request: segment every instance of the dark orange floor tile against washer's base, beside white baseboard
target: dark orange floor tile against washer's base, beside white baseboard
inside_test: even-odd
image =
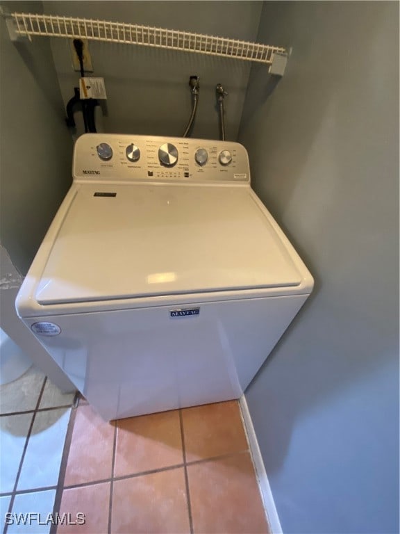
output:
[[[186,408],[182,419],[188,462],[248,448],[238,401]]]

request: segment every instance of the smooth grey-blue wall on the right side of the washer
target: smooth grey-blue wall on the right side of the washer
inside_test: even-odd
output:
[[[399,532],[399,3],[266,2],[239,139],[315,293],[246,397],[283,532]]]

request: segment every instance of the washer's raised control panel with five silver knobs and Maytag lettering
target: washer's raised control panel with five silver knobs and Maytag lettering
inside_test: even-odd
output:
[[[74,147],[76,181],[249,183],[240,143],[191,138],[85,133]]]

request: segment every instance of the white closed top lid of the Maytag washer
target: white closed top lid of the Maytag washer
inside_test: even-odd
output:
[[[35,296],[49,305],[301,280],[249,187],[86,184],[60,225]]]

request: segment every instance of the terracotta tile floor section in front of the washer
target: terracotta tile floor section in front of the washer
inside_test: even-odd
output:
[[[72,410],[57,533],[268,533],[236,401],[105,423]]]

